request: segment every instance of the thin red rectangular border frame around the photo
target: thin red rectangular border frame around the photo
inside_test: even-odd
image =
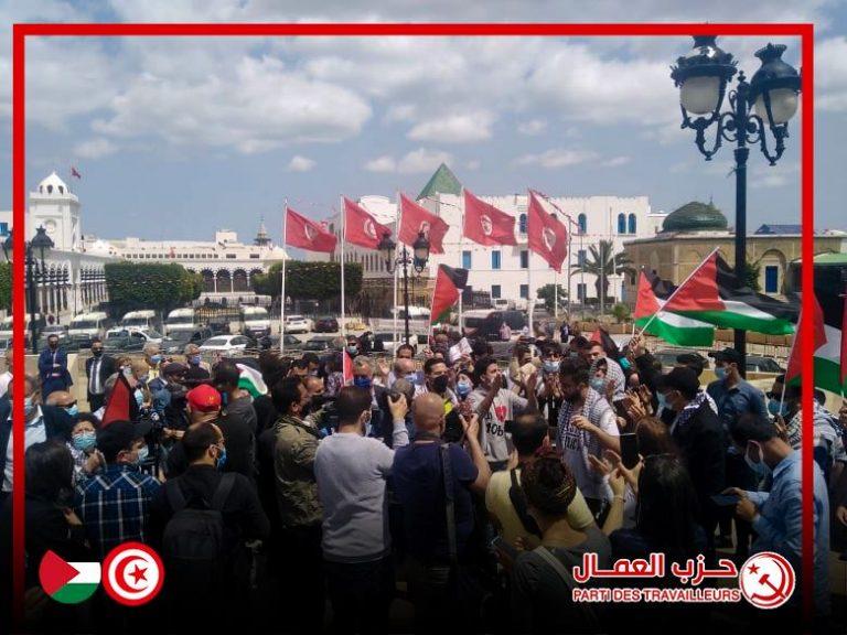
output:
[[[12,218],[14,227],[24,226],[25,207],[25,127],[24,127],[24,53],[26,36],[390,36],[390,35],[452,35],[452,36],[689,36],[689,35],[740,35],[740,36],[796,36],[801,39],[803,109],[801,114],[802,139],[802,260],[811,263],[814,258],[814,25],[790,24],[532,24],[532,23],[357,23],[357,24],[14,24],[12,30]],[[669,61],[668,61],[669,62]],[[668,78],[668,82],[671,79]],[[14,232],[14,252],[23,252],[24,232]],[[24,306],[24,266],[22,258],[15,258],[12,267],[13,306]],[[803,289],[814,289],[813,267],[802,268]],[[814,312],[813,293],[803,293],[803,311]],[[20,313],[20,311],[18,311]],[[12,326],[14,340],[13,374],[24,374],[23,321],[15,320]],[[802,351],[802,373],[805,377],[814,374],[813,351],[804,345],[814,340],[814,325],[805,320],[798,333]],[[804,439],[812,438],[812,391],[803,395]],[[12,405],[14,430],[14,492],[12,494],[13,526],[13,609],[15,618],[23,614],[24,592],[24,491],[23,484],[23,394],[15,392]],[[813,536],[813,455],[812,444],[804,443],[802,450],[803,471],[803,613],[811,628],[814,611],[814,536]]]

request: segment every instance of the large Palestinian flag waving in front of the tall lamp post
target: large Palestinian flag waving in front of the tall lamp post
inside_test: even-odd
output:
[[[723,329],[790,335],[794,333],[800,305],[739,287],[735,272],[716,249],[662,310]]]

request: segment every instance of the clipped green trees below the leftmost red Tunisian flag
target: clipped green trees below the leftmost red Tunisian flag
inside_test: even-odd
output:
[[[279,298],[282,290],[282,263],[271,265],[267,273],[253,278],[257,293]],[[362,290],[362,265],[347,262],[344,266],[344,294],[358,295]],[[329,300],[341,295],[341,263],[286,262],[286,295],[294,300]]]

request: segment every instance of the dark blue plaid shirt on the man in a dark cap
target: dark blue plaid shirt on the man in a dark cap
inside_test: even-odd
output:
[[[107,465],[76,489],[76,513],[104,558],[128,540],[146,542],[150,501],[159,481],[132,465]]]

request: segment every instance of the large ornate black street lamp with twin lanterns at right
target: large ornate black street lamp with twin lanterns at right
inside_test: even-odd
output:
[[[801,78],[793,66],[782,61],[785,46],[768,44],[755,53],[762,66],[750,83],[740,72],[736,88],[727,94],[738,63],[717,45],[716,40],[716,35],[695,35],[694,50],[676,61],[671,77],[679,88],[682,128],[691,128],[696,132],[695,144],[706,161],[711,160],[723,141],[736,147],[736,279],[744,287],[748,146],[759,146],[768,162],[776,164],[785,151],[789,120],[797,111]],[[725,96],[729,98],[729,109],[721,112]],[[706,130],[712,126],[715,140],[708,147]],[[768,141],[769,131],[773,137],[773,150]],[[744,375],[746,331],[736,330],[736,349],[741,354],[739,370]]]

